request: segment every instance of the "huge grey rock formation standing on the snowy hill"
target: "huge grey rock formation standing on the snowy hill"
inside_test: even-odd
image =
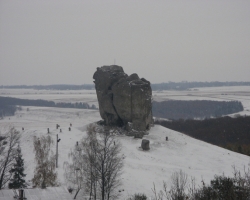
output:
[[[98,67],[94,73],[100,115],[106,125],[145,131],[152,122],[150,82],[128,76],[117,65]],[[131,126],[132,125],[132,126]]]

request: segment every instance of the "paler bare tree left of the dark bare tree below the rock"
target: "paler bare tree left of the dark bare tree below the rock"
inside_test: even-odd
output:
[[[83,189],[89,193],[90,199],[96,199],[95,181],[95,154],[96,154],[96,131],[95,126],[87,127],[87,137],[82,139],[69,153],[71,162],[64,162],[64,176],[68,181],[69,187],[76,190],[74,199],[78,192]]]

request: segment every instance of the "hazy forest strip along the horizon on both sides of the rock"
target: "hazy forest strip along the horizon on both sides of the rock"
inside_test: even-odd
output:
[[[167,82],[151,84],[152,90],[187,90],[196,87],[221,87],[221,86],[250,86],[250,82]],[[13,85],[13,86],[0,86],[0,88],[9,89],[36,89],[36,90],[93,90],[94,84],[84,85]]]

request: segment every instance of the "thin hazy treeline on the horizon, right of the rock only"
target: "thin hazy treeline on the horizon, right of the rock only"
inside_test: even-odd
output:
[[[250,82],[168,82],[151,84],[152,90],[187,90],[196,87],[250,86]]]

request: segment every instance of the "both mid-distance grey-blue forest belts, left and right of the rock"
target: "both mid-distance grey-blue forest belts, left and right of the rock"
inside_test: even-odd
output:
[[[77,103],[55,103],[46,100],[29,100],[12,97],[0,97],[0,117],[11,116],[15,114],[17,106],[42,106],[59,108],[79,108],[96,109],[95,105],[90,106],[84,102]],[[243,110],[239,101],[180,101],[171,100],[163,102],[153,102],[152,112],[154,117],[167,119],[195,119],[220,117]]]

